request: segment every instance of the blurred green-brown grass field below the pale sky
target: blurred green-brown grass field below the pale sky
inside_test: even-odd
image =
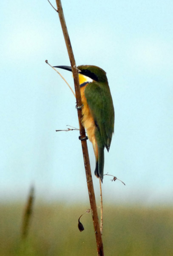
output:
[[[34,205],[28,237],[21,239],[24,205],[0,205],[0,256],[94,256],[91,213],[77,228],[88,207]],[[105,256],[172,256],[173,209],[104,206]]]

